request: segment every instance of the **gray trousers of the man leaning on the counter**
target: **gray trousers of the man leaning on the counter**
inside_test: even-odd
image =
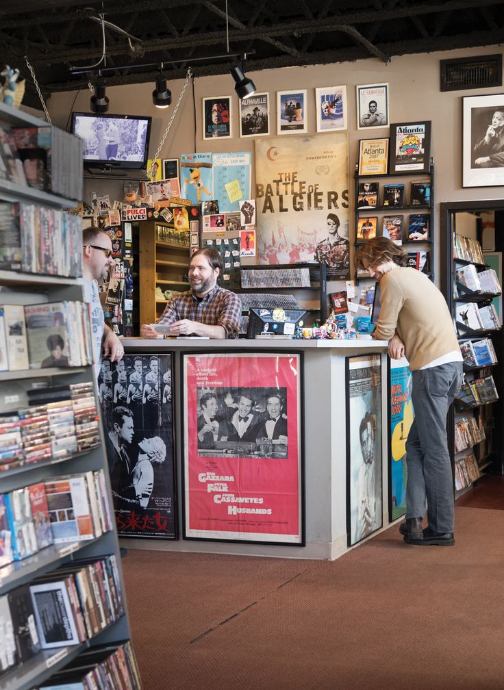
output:
[[[423,517],[434,532],[454,531],[453,473],[446,417],[462,385],[462,362],[413,372],[415,419],[406,442],[406,517]]]

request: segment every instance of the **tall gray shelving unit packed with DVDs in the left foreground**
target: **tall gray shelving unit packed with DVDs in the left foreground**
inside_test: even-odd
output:
[[[0,127],[5,143],[11,127],[47,123],[0,105]],[[70,176],[77,168],[81,175],[79,151],[64,151]],[[65,177],[57,165],[52,155],[51,191],[0,179],[0,687],[75,678],[73,667],[86,662],[89,673],[114,667],[117,687],[139,690],[91,364],[80,219],[68,224],[61,213],[75,199],[54,192]],[[57,333],[48,335],[52,324]]]

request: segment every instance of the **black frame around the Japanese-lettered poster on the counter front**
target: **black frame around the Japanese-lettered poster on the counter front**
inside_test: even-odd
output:
[[[153,539],[153,540],[167,540],[167,541],[178,541],[180,539],[180,524],[179,524],[179,492],[178,492],[178,477],[177,477],[177,456],[176,456],[176,448],[175,448],[175,395],[176,395],[176,389],[175,389],[175,353],[174,352],[158,352],[158,353],[152,353],[152,352],[130,352],[126,351],[124,355],[124,362],[126,363],[126,357],[131,357],[133,361],[135,360],[136,357],[142,357],[142,360],[145,359],[150,359],[150,357],[170,357],[170,374],[171,374],[171,438],[169,438],[170,441],[170,449],[171,449],[171,457],[173,459],[173,464],[171,468],[171,473],[172,473],[172,480],[173,480],[173,536],[172,535],[152,535],[148,533],[135,533],[135,534],[126,534],[123,532],[119,532],[119,529],[117,528],[117,517],[116,517],[116,509],[115,509],[115,502],[114,500],[110,504],[110,509],[114,514],[114,524],[116,525],[117,529],[117,536],[120,538],[125,538],[125,539]],[[103,364],[103,362],[102,362]],[[117,367],[117,362],[110,362],[110,371],[112,371],[112,366]],[[142,370],[143,370],[143,365],[142,365]],[[115,370],[116,371],[116,370]],[[166,370],[168,371],[168,369]],[[99,375],[99,380],[102,378],[102,373],[100,371]],[[144,374],[142,373],[142,386],[144,385]],[[162,381],[160,381],[160,385],[162,385]],[[113,391],[113,380],[112,380],[112,391]],[[162,393],[161,393],[162,396]],[[125,405],[126,407],[128,406],[127,404]],[[113,408],[114,404],[113,402],[110,404],[110,408],[108,409],[108,414],[104,410],[104,402],[100,403],[101,407],[101,415],[102,415],[102,424],[104,427],[104,435],[106,437],[106,451],[107,455],[111,452],[113,452],[113,446],[110,443],[110,440],[108,440],[108,431],[109,428],[107,426],[107,417],[108,414],[110,416],[113,414]],[[108,424],[111,424],[112,420],[110,419]],[[168,439],[167,439],[168,440]],[[110,482],[112,482],[112,475],[110,477]]]

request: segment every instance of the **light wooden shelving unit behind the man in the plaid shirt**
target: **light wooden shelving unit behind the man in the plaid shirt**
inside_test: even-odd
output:
[[[188,290],[189,232],[163,221],[139,223],[139,320],[153,324],[173,292]]]

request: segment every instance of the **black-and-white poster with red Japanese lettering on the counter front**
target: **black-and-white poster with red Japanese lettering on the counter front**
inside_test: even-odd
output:
[[[122,537],[176,537],[171,380],[171,355],[101,364],[98,393]]]

